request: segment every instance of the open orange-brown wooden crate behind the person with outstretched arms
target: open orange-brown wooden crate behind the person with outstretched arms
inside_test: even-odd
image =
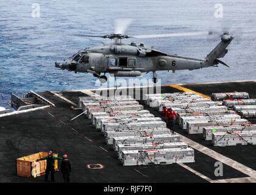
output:
[[[16,159],[16,174],[22,177],[38,177],[45,173],[46,170],[46,160],[36,161],[39,158],[46,157],[48,152],[38,152],[36,154],[31,154],[26,157],[21,157]],[[54,154],[58,156],[58,154]],[[58,169],[58,160],[54,161],[55,171]]]

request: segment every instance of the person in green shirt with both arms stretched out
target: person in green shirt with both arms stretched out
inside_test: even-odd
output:
[[[45,181],[48,182],[49,172],[51,172],[51,181],[54,182],[54,160],[62,160],[60,157],[55,157],[52,151],[48,152],[48,156],[38,159],[46,160],[46,170],[45,170]]]

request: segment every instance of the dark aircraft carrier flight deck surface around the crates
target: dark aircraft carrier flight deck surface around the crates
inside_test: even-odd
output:
[[[223,82],[180,85],[196,93],[245,91],[256,98],[256,82]],[[115,89],[111,89],[115,90]],[[140,90],[135,88],[134,90]],[[180,92],[174,85],[165,85],[161,93]],[[16,158],[41,151],[68,153],[72,165],[71,182],[256,182],[256,146],[215,147],[197,134],[188,134],[176,125],[181,141],[194,149],[194,163],[171,165],[123,166],[112,145],[96,130],[91,120],[76,108],[78,97],[90,96],[94,90],[37,91],[40,97],[54,104],[34,111],[7,113],[0,117],[0,182],[44,182],[44,177],[16,176]],[[141,95],[142,97],[142,95]],[[161,113],[139,100],[155,117]],[[0,115],[1,116],[1,115]],[[255,119],[248,119],[256,124]],[[215,176],[216,161],[223,163],[223,176]],[[88,165],[102,165],[90,169]],[[57,181],[62,181],[59,173]]]

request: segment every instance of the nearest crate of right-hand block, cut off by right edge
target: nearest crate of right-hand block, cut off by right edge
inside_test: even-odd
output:
[[[256,131],[213,133],[212,142],[214,146],[222,146],[222,147],[256,144]]]

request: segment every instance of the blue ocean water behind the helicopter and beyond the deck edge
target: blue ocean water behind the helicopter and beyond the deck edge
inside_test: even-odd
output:
[[[31,15],[40,5],[40,18]],[[222,3],[223,18],[215,18],[215,4]],[[116,18],[133,18],[129,35],[227,30],[235,39],[224,57],[230,68],[160,72],[163,84],[255,79],[256,1],[0,1],[0,106],[8,107],[10,94],[30,90],[94,88],[91,74],[61,71],[55,60],[64,60],[79,49],[108,43],[79,35],[113,33]],[[204,58],[219,43],[218,36],[151,38],[144,42],[169,54]],[[152,74],[144,77],[151,78]]]

